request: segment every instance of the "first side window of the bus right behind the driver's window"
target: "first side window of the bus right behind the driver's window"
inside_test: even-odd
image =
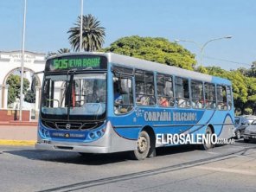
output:
[[[136,103],[138,106],[154,106],[154,75],[151,73],[136,71]]]

